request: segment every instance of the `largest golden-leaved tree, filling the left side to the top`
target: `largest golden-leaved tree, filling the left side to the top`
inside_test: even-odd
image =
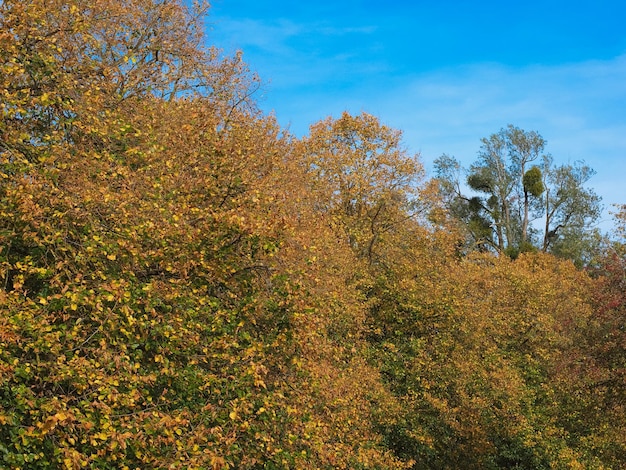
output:
[[[0,466],[403,466],[355,254],[205,9],[0,5]]]

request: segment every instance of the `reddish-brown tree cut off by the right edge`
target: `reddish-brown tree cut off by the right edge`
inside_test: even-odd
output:
[[[626,462],[626,212],[617,206],[613,238],[589,272],[596,284],[589,296],[593,315],[573,333],[559,367],[564,426],[579,436],[589,454],[619,468]]]

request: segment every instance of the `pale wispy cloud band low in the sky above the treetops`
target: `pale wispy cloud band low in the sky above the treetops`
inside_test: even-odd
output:
[[[584,160],[607,205],[626,201],[626,56],[554,66],[477,64],[419,75],[352,76],[349,90],[276,90],[266,103],[296,134],[343,110],[378,115],[403,130],[426,167],[443,153],[464,164],[480,138],[511,123],[536,130],[557,162]]]

